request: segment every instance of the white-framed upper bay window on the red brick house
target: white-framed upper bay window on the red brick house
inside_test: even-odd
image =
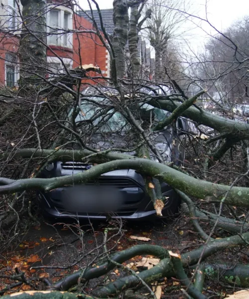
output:
[[[59,19],[58,19],[58,38],[57,38],[57,44],[51,43],[49,35],[50,35],[50,11],[51,10],[57,10],[59,12]],[[54,8],[51,7],[49,9],[49,11],[47,12],[47,24],[49,24],[49,26],[47,26],[47,33],[48,33],[48,45],[55,45],[55,46],[62,46],[62,47],[66,47],[66,48],[72,48],[73,47],[73,34],[72,33],[64,33],[64,14],[68,14],[68,30],[72,30],[73,28],[73,11],[69,10],[68,7],[65,7],[63,5],[59,5],[59,6],[55,6]],[[64,40],[65,40],[65,34],[66,34],[66,44],[64,44]]]

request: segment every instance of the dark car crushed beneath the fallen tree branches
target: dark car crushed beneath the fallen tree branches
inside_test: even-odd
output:
[[[103,101],[103,98],[99,100]],[[79,113],[76,118],[77,123],[93,116],[91,104],[82,103],[82,107],[84,107],[82,108],[84,109],[84,116]],[[158,120],[165,118],[167,115],[167,112],[147,104],[142,109],[150,112],[153,110],[155,118]],[[96,124],[98,124],[98,120],[96,120]],[[107,121],[107,126],[102,128],[105,134],[103,135],[103,132],[95,134],[91,138],[91,142],[101,150],[108,149],[110,146],[114,148],[116,145],[119,148],[125,148],[127,142],[125,124],[123,116],[118,112],[114,113]],[[112,128],[115,128],[115,133],[113,133]],[[184,160],[185,136],[183,132],[186,130],[186,120],[179,118],[176,126],[167,127],[166,130],[153,135],[154,145],[161,152],[165,161],[173,161],[175,164],[180,165]],[[134,154],[134,152],[130,152],[130,154]],[[156,157],[151,154],[151,159],[156,160]],[[91,167],[94,167],[94,165],[79,161],[56,161],[43,170],[41,177],[72,175],[86,171]],[[111,196],[113,199],[109,196],[110,192],[105,193],[108,192],[107,190],[112,190],[112,194],[115,194]],[[167,183],[163,182],[161,184],[161,190],[163,196],[167,197],[162,210],[163,216],[175,215],[179,212],[179,196]],[[114,199],[114,196],[117,200]],[[62,187],[50,192],[38,192],[38,199],[44,214],[57,219],[68,217],[104,219],[107,215],[125,219],[145,219],[154,217],[156,214],[150,197],[146,193],[142,175],[133,169],[104,173],[84,186]]]

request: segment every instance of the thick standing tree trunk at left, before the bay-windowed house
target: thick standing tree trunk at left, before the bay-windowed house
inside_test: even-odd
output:
[[[23,23],[21,29],[20,92],[24,93],[42,83],[46,63],[46,2],[21,0]]]

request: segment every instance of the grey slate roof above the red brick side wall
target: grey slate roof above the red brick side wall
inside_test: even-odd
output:
[[[86,12],[90,16],[92,15],[91,10],[86,10]],[[87,20],[89,20],[90,22],[92,22],[92,20],[83,11],[80,11],[79,14],[82,15]],[[114,27],[115,27],[114,22],[113,22],[113,9],[112,8],[111,9],[101,9],[101,15],[102,15],[103,24],[105,26],[107,33],[112,35],[114,33]],[[93,16],[97,22],[97,25],[100,28],[100,16],[99,16],[98,10],[93,10]]]

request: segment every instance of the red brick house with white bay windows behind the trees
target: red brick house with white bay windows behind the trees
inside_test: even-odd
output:
[[[20,0],[0,0],[0,85],[13,87],[19,79],[18,45],[21,19],[18,15]],[[91,20],[82,12],[75,13],[62,0],[47,1],[47,68],[54,73],[83,64],[99,66],[103,76],[110,76],[110,57],[100,38],[84,30],[95,30]],[[90,13],[90,11],[88,11]],[[99,23],[99,15],[94,11]],[[102,10],[108,34],[114,33],[113,9]],[[58,28],[56,30],[55,28]],[[59,33],[59,29],[75,29],[73,33]],[[56,32],[57,34],[52,34]],[[146,72],[150,73],[150,51],[139,38],[139,57]],[[126,46],[126,50],[128,47]],[[128,53],[128,51],[127,51]],[[93,83],[93,82],[92,82]]]

